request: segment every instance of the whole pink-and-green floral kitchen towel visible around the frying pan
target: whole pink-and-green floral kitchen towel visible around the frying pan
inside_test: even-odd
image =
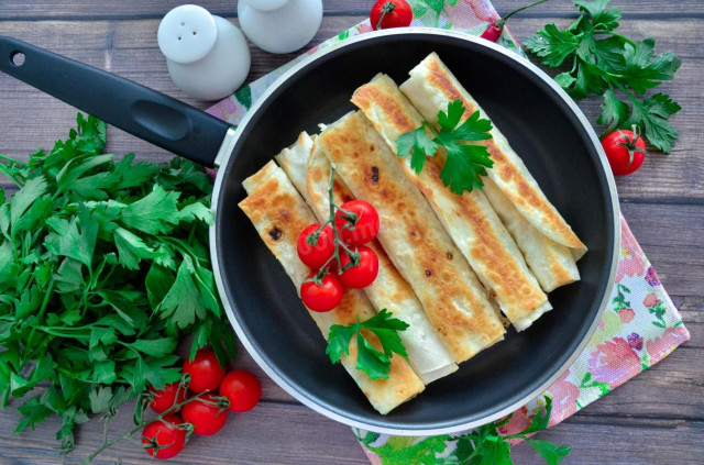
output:
[[[481,35],[498,19],[488,0],[410,0],[411,25],[452,29]],[[208,112],[238,124],[252,103],[287,69],[315,52],[336,46],[345,38],[372,31],[364,21],[309,49],[285,66],[238,90],[233,96],[208,109]],[[522,55],[508,29],[499,44]],[[668,356],[690,339],[680,313],[664,291],[654,269],[622,217],[620,258],[609,305],[586,348],[543,395],[514,412],[499,428],[513,434],[530,424],[541,411],[544,396],[552,399],[549,425],[557,424],[584,406],[617,388],[644,369]],[[354,430],[373,464],[407,465],[410,463],[446,463],[457,458],[457,435],[389,436]],[[421,462],[422,461],[422,462]]]

